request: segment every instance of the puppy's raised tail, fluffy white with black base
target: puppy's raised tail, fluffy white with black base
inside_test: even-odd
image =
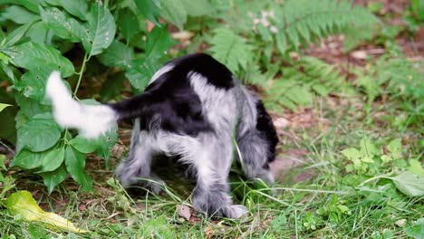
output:
[[[46,85],[46,95],[52,100],[53,116],[56,122],[62,127],[78,129],[83,137],[89,139],[104,134],[119,119],[140,116],[140,112],[125,106],[141,104],[140,100],[143,100],[139,96],[111,105],[84,105],[72,98],[71,92],[61,79],[60,72],[50,74]],[[140,104],[137,106],[141,106]]]

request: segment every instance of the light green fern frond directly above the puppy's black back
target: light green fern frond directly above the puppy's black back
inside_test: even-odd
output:
[[[247,63],[252,61],[252,47],[246,40],[226,28],[218,28],[210,41],[210,52],[225,64],[232,72],[239,73],[247,69]]]

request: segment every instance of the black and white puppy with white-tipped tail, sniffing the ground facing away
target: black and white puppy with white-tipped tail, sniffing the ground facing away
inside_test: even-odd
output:
[[[47,81],[53,115],[63,127],[95,138],[120,119],[136,119],[130,155],[117,168],[123,186],[140,177],[162,182],[150,170],[155,155],[178,156],[196,172],[193,205],[207,215],[238,218],[245,206],[233,205],[227,177],[233,160],[233,133],[247,177],[272,184],[269,163],[278,141],[264,105],[220,62],[205,53],[168,62],[146,90],[114,104],[89,106],[72,99],[53,72]],[[150,184],[159,192],[158,185]]]

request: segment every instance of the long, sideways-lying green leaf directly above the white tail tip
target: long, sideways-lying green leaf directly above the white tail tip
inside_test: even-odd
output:
[[[74,72],[72,62],[63,57],[62,53],[52,46],[38,43],[22,43],[10,47],[10,58],[14,65],[28,70],[40,68],[49,71],[60,71],[63,77],[71,76]]]

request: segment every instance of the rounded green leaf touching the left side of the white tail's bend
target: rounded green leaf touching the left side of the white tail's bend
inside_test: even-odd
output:
[[[29,119],[17,130],[16,148],[40,152],[53,147],[61,138],[61,129],[56,124],[51,113],[43,113]]]

